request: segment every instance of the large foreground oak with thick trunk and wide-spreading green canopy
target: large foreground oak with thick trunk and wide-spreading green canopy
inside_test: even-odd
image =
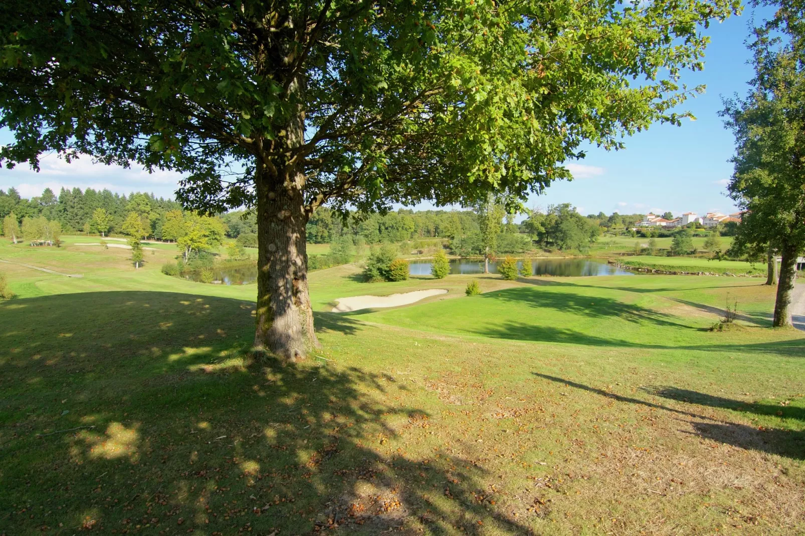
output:
[[[255,344],[315,345],[305,223],[569,178],[663,121],[738,0],[6,0],[0,161],[169,168],[189,208],[258,215]]]

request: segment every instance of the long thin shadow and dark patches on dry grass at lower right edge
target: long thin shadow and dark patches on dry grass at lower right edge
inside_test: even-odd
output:
[[[757,450],[779,456],[786,456],[795,460],[805,459],[805,431],[752,427],[741,423],[730,423],[724,420],[707,417],[702,414],[696,414],[691,411],[678,410],[669,406],[663,406],[662,404],[641,400],[639,398],[624,397],[619,394],[610,393],[609,391],[597,389],[592,386],[586,386],[582,383],[570,381],[561,377],[549,376],[543,373],[533,374],[546,380],[562,383],[568,387],[599,394],[602,397],[610,398],[617,402],[638,404],[657,410],[664,410],[675,414],[686,415],[687,417],[698,418],[700,421],[690,422],[691,426],[696,431],[696,434],[707,439],[712,439],[713,441],[727,443],[735,447],[745,448],[748,450]],[[725,409],[740,409],[741,406],[747,406],[737,400],[713,397],[709,394],[696,393],[695,391],[688,390],[679,390],[672,387],[647,388],[644,391],[656,396],[671,398],[672,400],[677,400],[679,402],[690,402],[693,404],[699,404],[701,406],[721,407]],[[770,410],[770,407],[763,405],[753,406],[756,408],[756,411],[754,411],[755,413],[769,414],[766,413],[766,411]],[[775,407],[775,414],[779,409],[783,408]],[[800,420],[803,419],[803,412],[801,408],[788,409],[791,411],[787,416]]]

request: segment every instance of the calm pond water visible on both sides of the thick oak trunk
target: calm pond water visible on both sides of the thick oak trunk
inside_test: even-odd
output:
[[[532,275],[555,275],[561,277],[578,277],[584,275],[634,275],[632,272],[622,270],[617,266],[607,264],[604,258],[532,258],[520,259],[517,262],[518,270],[522,262],[531,263]],[[497,261],[500,262],[500,261]],[[489,262],[489,273],[497,274],[497,262]],[[409,263],[411,275],[430,275],[431,262],[411,261]],[[257,282],[257,266],[222,266],[213,269],[213,278],[223,285],[248,285]],[[484,262],[478,259],[454,258],[450,260],[451,274],[483,274]],[[191,281],[201,281],[200,274],[189,274]]]

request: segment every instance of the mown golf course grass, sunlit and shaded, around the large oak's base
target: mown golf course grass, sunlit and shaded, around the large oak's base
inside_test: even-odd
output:
[[[282,366],[247,351],[254,285],[160,274],[174,254],[0,242],[84,275],[0,263],[0,534],[805,531],[805,340],[758,279],[338,266],[310,275],[322,348]]]

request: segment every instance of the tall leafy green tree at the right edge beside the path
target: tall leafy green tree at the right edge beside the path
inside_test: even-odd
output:
[[[805,56],[798,43],[795,36],[781,46],[758,31],[753,89],[745,99],[726,101],[723,112],[736,138],[728,191],[746,211],[735,249],[773,243],[782,256],[774,326],[791,325],[795,263],[805,249]]]

